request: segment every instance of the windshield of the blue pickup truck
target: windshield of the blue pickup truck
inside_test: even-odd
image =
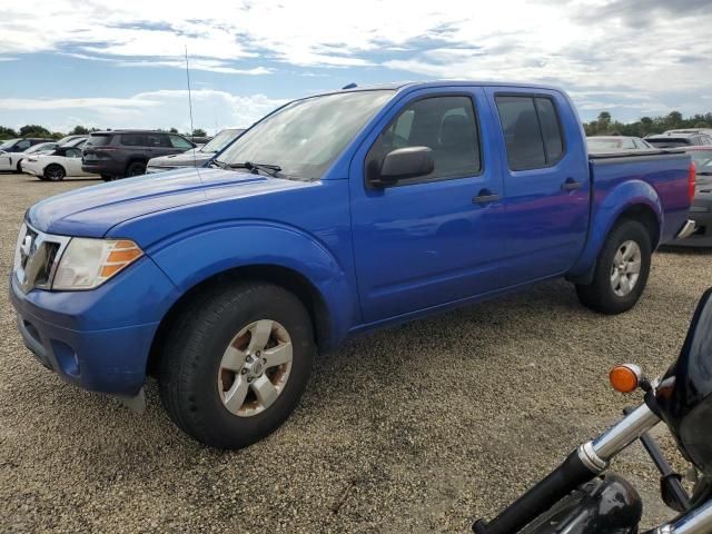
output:
[[[338,92],[288,103],[218,156],[220,162],[274,165],[278,177],[319,179],[393,90]]]

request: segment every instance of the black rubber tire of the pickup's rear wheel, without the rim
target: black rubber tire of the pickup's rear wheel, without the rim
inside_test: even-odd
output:
[[[625,295],[619,295],[612,284],[614,258],[627,241],[633,241],[640,248],[640,273],[632,290]],[[609,234],[599,254],[593,281],[587,285],[576,285],[578,300],[587,308],[601,314],[616,315],[627,312],[635,306],[645,289],[651,257],[651,237],[645,226],[637,220],[622,220]]]

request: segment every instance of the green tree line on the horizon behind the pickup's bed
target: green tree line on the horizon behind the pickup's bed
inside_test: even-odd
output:
[[[712,113],[696,113],[683,117],[680,111],[671,111],[664,117],[641,117],[635,122],[613,120],[611,113],[602,111],[599,118],[584,122],[586,136],[633,136],[645,137],[650,134],[662,134],[665,130],[684,128],[712,128]]]

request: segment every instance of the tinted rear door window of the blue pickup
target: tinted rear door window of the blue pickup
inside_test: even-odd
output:
[[[512,170],[555,165],[564,155],[564,138],[552,99],[531,96],[495,98]]]

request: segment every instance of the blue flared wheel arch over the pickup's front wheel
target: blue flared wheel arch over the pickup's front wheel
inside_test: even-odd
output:
[[[346,269],[315,237],[266,221],[201,228],[156,244],[147,254],[185,294],[201,281],[235,268],[270,265],[304,276],[322,295],[329,318],[329,340],[343,340],[358,323],[356,288]]]

